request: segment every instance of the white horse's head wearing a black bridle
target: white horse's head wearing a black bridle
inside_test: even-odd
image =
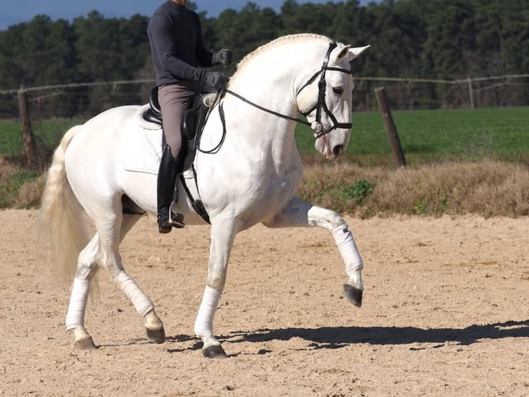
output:
[[[368,47],[351,48],[331,41],[318,71],[297,91],[298,109],[311,124],[314,146],[327,158],[342,154],[349,142],[354,89],[349,62]]]

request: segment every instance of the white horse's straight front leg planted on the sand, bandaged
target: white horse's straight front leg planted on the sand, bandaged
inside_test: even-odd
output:
[[[226,358],[220,342],[213,335],[213,317],[226,284],[229,255],[235,238],[233,219],[212,221],[209,246],[209,267],[206,288],[195,320],[195,334],[202,339],[202,354],[206,358]]]

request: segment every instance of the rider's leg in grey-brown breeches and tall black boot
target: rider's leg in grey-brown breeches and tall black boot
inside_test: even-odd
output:
[[[195,93],[177,84],[160,86],[158,101],[162,110],[164,136],[162,160],[157,179],[158,231],[169,233],[171,228],[183,228],[184,216],[171,213],[176,177],[184,171],[186,147],[182,145],[180,123],[182,113],[189,109]]]

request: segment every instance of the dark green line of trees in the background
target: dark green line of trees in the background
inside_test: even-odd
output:
[[[196,9],[192,2],[190,6]],[[356,76],[456,80],[529,72],[528,0],[383,0],[367,6],[358,0],[285,0],[279,12],[255,3],[239,11],[224,10],[218,17],[198,12],[206,46],[231,48],[235,62],[281,35],[318,33],[354,46],[372,46],[355,61]],[[148,18],[106,18],[93,11],[73,21],[38,15],[12,25],[0,31],[0,90],[22,84],[152,79]],[[73,97],[78,102],[73,115],[104,106],[98,91],[105,91],[110,102],[116,92],[110,86],[79,90],[89,92]],[[119,90],[131,91],[128,103],[144,102],[137,98],[144,95],[137,87]],[[447,95],[441,86],[432,85],[428,91],[421,95]],[[516,95],[528,104],[527,84]],[[0,95],[0,112],[15,106],[12,102]]]

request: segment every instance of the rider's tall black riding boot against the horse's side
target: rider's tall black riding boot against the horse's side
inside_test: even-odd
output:
[[[160,169],[158,169],[157,194],[158,194],[158,231],[169,233],[171,228],[184,228],[184,215],[171,211],[175,194],[175,183],[178,174],[184,171],[184,156],[177,158],[171,154],[171,147],[164,146]]]

